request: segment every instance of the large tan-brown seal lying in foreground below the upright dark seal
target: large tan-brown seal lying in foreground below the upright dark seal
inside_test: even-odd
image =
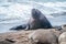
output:
[[[57,44],[57,36],[50,30],[36,30],[29,34],[29,44]]]

